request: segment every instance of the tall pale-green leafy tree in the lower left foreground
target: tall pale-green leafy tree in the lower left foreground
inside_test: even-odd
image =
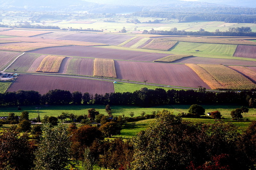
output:
[[[36,170],[66,170],[69,161],[70,140],[65,125],[52,128],[44,124],[42,136],[35,152]]]

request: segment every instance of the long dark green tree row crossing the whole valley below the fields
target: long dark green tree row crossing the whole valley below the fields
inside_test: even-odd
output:
[[[29,105],[29,104],[101,104],[101,105],[128,105],[136,104],[144,107],[163,104],[243,104],[250,107],[256,105],[256,94],[253,91],[227,91],[209,92],[204,88],[199,90],[168,90],[157,88],[141,88],[133,93],[106,93],[105,95],[89,93],[82,94],[75,91],[70,93],[67,90],[50,90],[44,95],[36,91],[18,90],[17,92],[0,93],[1,105]]]

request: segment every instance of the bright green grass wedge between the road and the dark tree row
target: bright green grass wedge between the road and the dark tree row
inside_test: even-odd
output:
[[[170,90],[173,89],[171,87],[162,87],[162,86],[151,86],[151,85],[145,85],[145,84],[135,84],[135,83],[124,83],[124,82],[118,82],[114,84],[115,92],[134,92],[136,90],[139,90],[140,88],[146,87],[148,89],[156,89],[156,88],[161,88]],[[174,88],[175,90],[180,90],[178,88]]]

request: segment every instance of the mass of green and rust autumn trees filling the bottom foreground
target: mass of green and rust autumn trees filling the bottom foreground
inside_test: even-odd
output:
[[[111,123],[111,122],[110,122]],[[109,124],[110,124],[109,123]],[[256,122],[243,133],[234,124],[194,124],[167,110],[133,140],[103,140],[103,127],[44,124],[38,140],[14,129],[0,132],[1,169],[255,169]],[[69,166],[68,166],[69,165]]]

